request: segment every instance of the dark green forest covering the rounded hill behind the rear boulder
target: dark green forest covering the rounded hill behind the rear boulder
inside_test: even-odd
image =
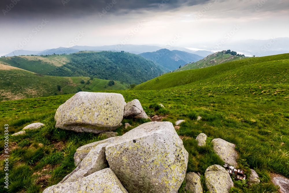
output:
[[[136,54],[103,51],[74,54],[70,62],[45,75],[95,76],[105,80],[139,84],[164,72],[160,66]]]

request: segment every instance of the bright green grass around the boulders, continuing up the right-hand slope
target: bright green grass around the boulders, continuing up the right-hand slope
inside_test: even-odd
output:
[[[136,86],[134,90],[103,91],[121,93],[125,102],[140,100],[150,117],[162,121],[184,119],[175,126],[189,152],[187,172],[199,172],[204,192],[204,172],[224,162],[212,150],[212,139],[236,144],[239,168],[247,179],[255,169],[261,183],[248,186],[235,182],[232,192],[277,193],[271,176],[289,177],[289,54],[246,58],[205,69],[169,73]],[[175,76],[173,76],[175,75]],[[179,79],[179,81],[178,81]],[[149,90],[149,86],[151,90]],[[137,90],[138,89],[138,90]],[[143,90],[140,90],[143,89]],[[0,153],[4,147],[4,124],[9,124],[8,192],[42,192],[60,182],[75,169],[73,155],[84,144],[101,140],[96,134],[75,133],[55,128],[55,110],[73,94],[0,102]],[[165,109],[158,104],[162,103]],[[197,117],[202,119],[197,121]],[[131,127],[117,128],[118,135],[147,120],[124,119]],[[42,122],[38,130],[11,136],[24,126]],[[199,133],[208,136],[205,147],[198,147]],[[3,156],[1,156],[3,157]],[[4,162],[0,166],[0,192]],[[184,192],[185,182],[179,193]]]

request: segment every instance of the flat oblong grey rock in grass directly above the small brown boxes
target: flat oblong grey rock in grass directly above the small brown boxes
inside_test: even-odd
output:
[[[235,150],[236,145],[229,143],[223,139],[213,139],[213,149],[218,156],[225,161],[225,163],[237,167],[238,154]]]

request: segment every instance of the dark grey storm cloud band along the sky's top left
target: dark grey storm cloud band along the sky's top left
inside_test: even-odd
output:
[[[37,15],[78,17],[98,14],[109,5],[111,13],[126,14],[144,10],[166,11],[207,1],[209,0],[2,0],[0,9],[4,15],[18,17]]]

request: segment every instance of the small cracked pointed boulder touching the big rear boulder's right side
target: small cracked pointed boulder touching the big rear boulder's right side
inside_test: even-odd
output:
[[[123,117],[134,117],[148,119],[147,114],[142,109],[140,101],[135,99],[125,105]]]

